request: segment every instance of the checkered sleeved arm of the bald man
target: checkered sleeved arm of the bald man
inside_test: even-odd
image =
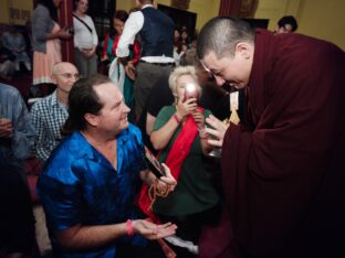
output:
[[[35,103],[31,108],[31,119],[35,128],[34,154],[39,160],[45,161],[48,160],[50,153],[44,148],[44,136],[46,135],[44,128],[46,126],[44,125],[42,114],[40,112],[39,103]]]

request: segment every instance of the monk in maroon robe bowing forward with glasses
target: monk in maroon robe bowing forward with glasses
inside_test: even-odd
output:
[[[200,257],[345,257],[344,52],[230,18],[203,26],[197,52],[248,101],[241,126],[207,119],[226,201]]]

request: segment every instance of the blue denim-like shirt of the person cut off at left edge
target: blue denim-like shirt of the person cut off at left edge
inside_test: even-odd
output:
[[[6,84],[0,84],[0,117],[12,120],[13,137],[0,139],[0,165],[23,164],[32,153],[34,127],[20,93]]]

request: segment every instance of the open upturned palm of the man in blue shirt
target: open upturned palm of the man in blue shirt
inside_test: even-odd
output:
[[[171,223],[158,225],[144,219],[133,221],[134,233],[150,240],[171,236],[176,233],[176,228],[177,226]]]

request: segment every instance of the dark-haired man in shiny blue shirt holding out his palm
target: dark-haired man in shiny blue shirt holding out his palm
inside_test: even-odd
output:
[[[146,169],[142,135],[128,123],[128,112],[118,88],[105,76],[80,79],[70,92],[67,136],[38,183],[55,256],[117,257],[124,243],[135,249],[145,245],[144,238],[175,234],[169,223],[137,219],[136,184],[140,178],[148,184],[157,179]],[[172,191],[176,181],[165,168],[157,187]]]

